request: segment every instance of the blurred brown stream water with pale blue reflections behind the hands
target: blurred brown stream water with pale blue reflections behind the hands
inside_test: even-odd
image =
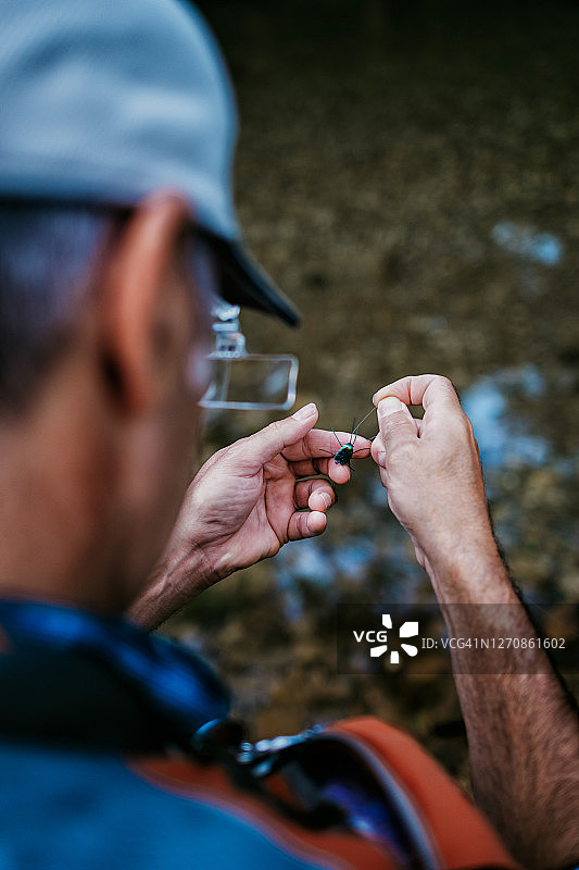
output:
[[[579,10],[200,5],[238,92],[247,239],[304,315],[291,331],[247,313],[250,349],[299,356],[297,407],[316,401],[325,427],[349,428],[402,375],[451,377],[519,585],[579,601]],[[205,455],[273,419],[214,417]],[[323,537],[225,581],[169,629],[217,663],[254,736],[374,712],[466,783],[451,676],[336,672],[337,602],[431,599],[375,467],[357,461]]]

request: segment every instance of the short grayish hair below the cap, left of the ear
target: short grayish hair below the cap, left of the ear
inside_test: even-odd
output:
[[[0,201],[0,413],[20,411],[70,345],[114,209]]]

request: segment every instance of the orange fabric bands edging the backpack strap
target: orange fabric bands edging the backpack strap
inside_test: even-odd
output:
[[[386,768],[427,832],[443,870],[520,870],[489,822],[440,765],[408,734],[373,717],[339,722],[323,735],[347,738]],[[235,785],[215,765],[190,758],[135,758],[133,772],[185,799],[209,804],[261,830],[287,854],[336,870],[394,870],[387,847],[337,830],[313,831],[279,813],[260,796]]]

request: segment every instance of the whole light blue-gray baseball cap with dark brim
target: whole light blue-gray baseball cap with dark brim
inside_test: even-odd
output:
[[[250,256],[231,194],[234,96],[185,0],[0,0],[0,197],[190,203],[227,301],[297,324]]]

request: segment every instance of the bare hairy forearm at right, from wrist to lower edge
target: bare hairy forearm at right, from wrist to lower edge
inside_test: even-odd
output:
[[[427,564],[449,634],[536,638],[496,548],[484,550]],[[577,861],[579,720],[544,651],[527,648],[524,668],[519,650],[452,656],[477,803],[525,867]]]

